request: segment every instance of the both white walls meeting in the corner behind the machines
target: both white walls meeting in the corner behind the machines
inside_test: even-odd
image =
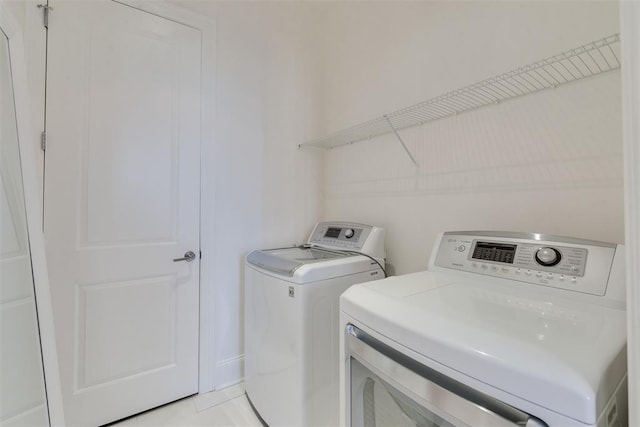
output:
[[[296,149],[615,33],[617,3],[177,3],[217,27],[218,388],[242,376],[242,257],[318,219],[387,227],[396,274],[424,269],[444,229],[623,240],[618,72],[404,131],[417,171],[391,136]]]

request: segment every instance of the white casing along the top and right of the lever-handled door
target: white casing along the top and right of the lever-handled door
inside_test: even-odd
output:
[[[195,28],[202,34],[202,105],[200,139],[200,393],[211,391],[215,383],[215,284],[214,248],[214,130],[216,80],[216,23],[165,1],[113,0],[127,6]]]

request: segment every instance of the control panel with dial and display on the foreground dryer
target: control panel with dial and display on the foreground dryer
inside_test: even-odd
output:
[[[616,245],[510,232],[448,232],[437,243],[437,267],[604,295]]]

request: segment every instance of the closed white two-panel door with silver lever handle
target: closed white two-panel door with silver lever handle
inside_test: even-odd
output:
[[[49,5],[44,227],[64,410],[99,425],[198,390],[201,34],[108,0]]]

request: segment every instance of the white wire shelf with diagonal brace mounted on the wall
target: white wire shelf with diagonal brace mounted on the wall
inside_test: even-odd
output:
[[[299,147],[334,148],[395,132],[407,154],[416,163],[397,133],[398,130],[617,70],[620,68],[619,50],[620,34],[614,34],[382,117],[304,142]]]

